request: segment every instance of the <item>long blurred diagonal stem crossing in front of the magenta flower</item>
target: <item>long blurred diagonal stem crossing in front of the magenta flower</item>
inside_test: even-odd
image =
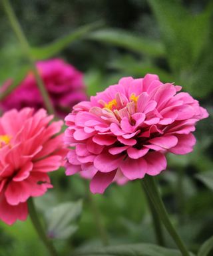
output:
[[[23,30],[21,29],[21,25],[19,24],[19,21],[15,15],[15,12],[13,11],[13,7],[11,6],[11,3],[9,0],[2,0],[3,7],[5,9],[5,13],[7,14],[7,17],[11,23],[11,27],[17,36],[17,39],[19,39],[19,42],[21,44],[21,47],[23,49],[23,53],[25,53],[29,64],[31,65],[31,69],[33,71],[33,74],[35,75],[35,79],[37,81],[37,85],[39,87],[39,90],[41,92],[41,95],[43,97],[43,101],[45,103],[45,107],[47,108],[47,111],[50,114],[54,114],[53,104],[51,103],[51,99],[47,93],[47,90],[45,89],[45,85],[39,75],[39,72],[37,70],[37,67],[35,65],[35,60],[33,56],[31,55],[31,47],[27,41],[27,38],[25,37],[25,34],[23,33]]]

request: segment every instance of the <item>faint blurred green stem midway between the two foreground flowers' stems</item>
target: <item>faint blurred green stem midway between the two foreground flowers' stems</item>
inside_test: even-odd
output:
[[[93,211],[93,217],[95,221],[95,225],[97,227],[97,230],[99,231],[99,235],[101,237],[101,241],[104,246],[107,246],[108,243],[108,234],[105,229],[105,225],[103,224],[102,217],[101,217],[101,212],[99,211],[99,207],[97,206],[97,203],[95,202],[93,195],[91,191],[89,191],[89,186],[87,181],[85,181],[85,189],[87,193],[87,198],[89,200],[89,203],[91,205],[91,209]]]

